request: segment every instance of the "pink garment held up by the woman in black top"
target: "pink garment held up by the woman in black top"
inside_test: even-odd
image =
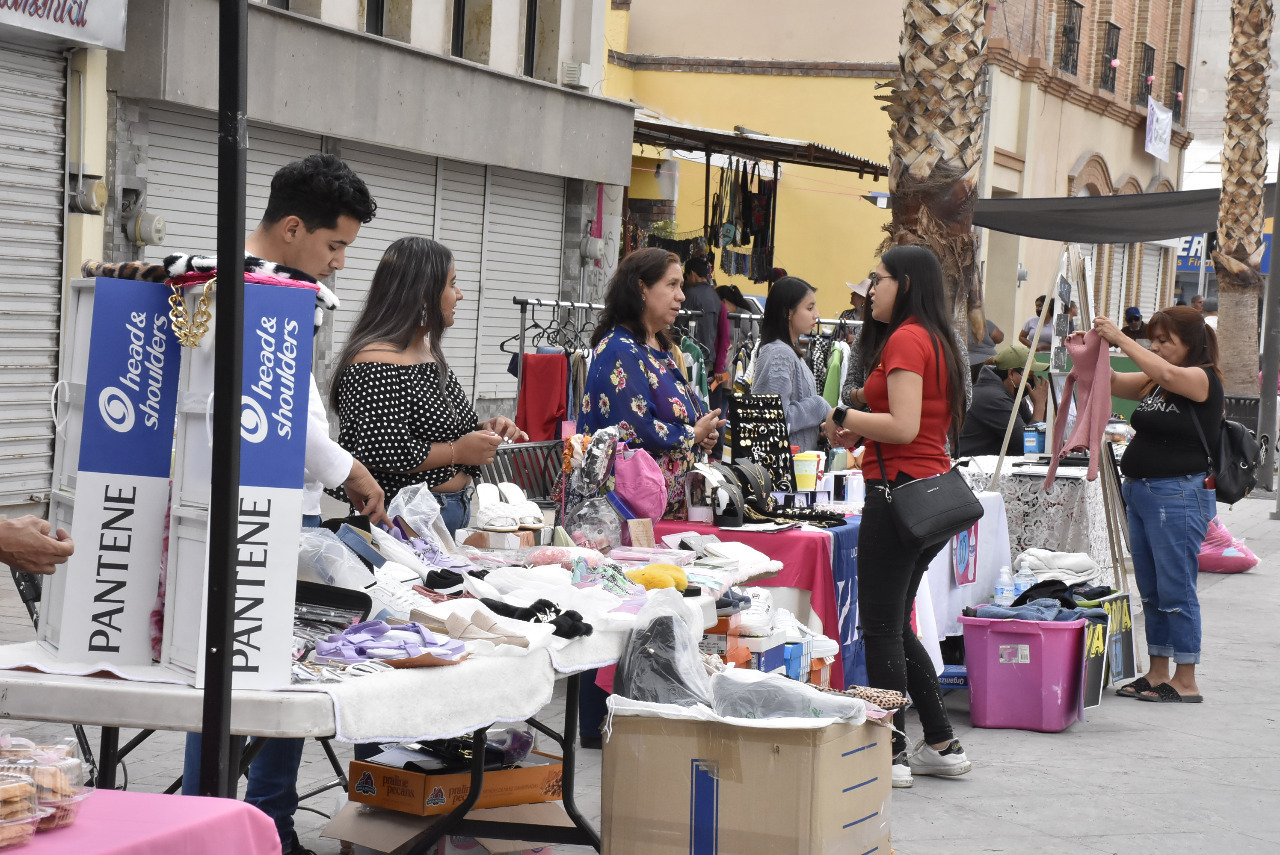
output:
[[[1084,334],[1083,340],[1076,335],[1066,339],[1066,352],[1071,355],[1071,372],[1066,375],[1057,419],[1053,420],[1053,442],[1057,445],[1057,452],[1048,463],[1048,475],[1044,476],[1046,490],[1053,486],[1057,462],[1078,448],[1089,452],[1087,477],[1091,481],[1098,479],[1102,435],[1111,419],[1111,356],[1107,352],[1106,339],[1091,329]],[[1075,426],[1064,443],[1062,433],[1066,430],[1066,419],[1071,412],[1073,389],[1075,390]]]

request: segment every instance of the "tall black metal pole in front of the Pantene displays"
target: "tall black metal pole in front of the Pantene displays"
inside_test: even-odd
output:
[[[236,796],[230,772],[232,621],[239,499],[241,369],[244,343],[244,164],[248,4],[218,9],[218,334],[214,337],[214,448],[209,493],[209,604],[205,612],[204,744],[200,794]]]

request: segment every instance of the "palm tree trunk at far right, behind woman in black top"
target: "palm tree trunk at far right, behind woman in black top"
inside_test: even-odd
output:
[[[1219,248],[1213,251],[1219,344],[1228,394],[1256,394],[1258,390],[1258,296],[1272,14],[1271,0],[1231,0],[1222,196],[1217,210]]]

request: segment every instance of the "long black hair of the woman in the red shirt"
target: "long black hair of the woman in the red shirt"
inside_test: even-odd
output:
[[[964,374],[969,370],[960,358],[960,348],[951,334],[951,319],[947,315],[946,288],[942,284],[942,265],[928,247],[908,244],[897,246],[881,256],[881,264],[897,282],[897,297],[893,298],[893,314],[883,325],[883,334],[867,365],[873,369],[879,364],[881,353],[890,335],[908,317],[924,328],[938,347],[947,369],[947,398],[951,406],[951,429],[960,434],[964,422]],[[865,330],[865,328],[864,328]],[[865,332],[864,332],[865,335]]]

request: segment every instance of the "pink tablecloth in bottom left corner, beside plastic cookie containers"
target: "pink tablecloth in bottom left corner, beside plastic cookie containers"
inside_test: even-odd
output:
[[[280,855],[275,823],[233,799],[99,790],[74,824],[36,835],[23,855]]]

